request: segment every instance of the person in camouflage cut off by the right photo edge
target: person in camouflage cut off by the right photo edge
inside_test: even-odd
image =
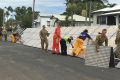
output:
[[[120,58],[120,25],[118,27],[118,31],[116,34],[116,39],[115,39],[115,44],[117,45],[116,47],[116,57]]]

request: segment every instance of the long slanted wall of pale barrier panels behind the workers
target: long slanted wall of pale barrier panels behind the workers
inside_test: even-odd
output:
[[[115,26],[114,26],[115,27]],[[112,30],[116,29],[116,27],[109,27],[108,29],[108,33],[111,33],[110,35],[112,35]],[[48,41],[49,41],[49,49],[51,50],[52,48],[52,43],[53,43],[53,33],[56,27],[47,27],[46,29],[48,30],[48,32],[50,33],[49,37],[48,37]],[[93,31],[95,31],[97,28],[97,26],[92,26],[92,27],[88,27],[88,26],[82,26],[82,27],[61,27],[61,35],[62,37],[64,36],[73,36],[74,40],[80,35],[80,33],[84,30],[84,29],[88,29],[89,33],[91,33],[90,35],[92,36],[92,38],[95,39],[97,34],[92,33]],[[106,27],[108,28],[108,27]],[[24,45],[28,45],[28,46],[32,46],[32,47],[38,47],[40,48],[40,37],[39,37],[39,32],[42,28],[27,28],[26,30],[24,30],[23,34],[22,34],[22,41]],[[102,30],[103,27],[101,27],[98,30]],[[95,31],[97,32],[97,31]],[[74,42],[73,40],[73,42]],[[115,44],[113,43],[113,41],[115,40],[115,36],[112,36],[111,39],[109,39],[109,44],[111,46],[115,46]],[[85,42],[86,44],[86,42]],[[71,52],[71,48],[69,49],[69,53]]]

